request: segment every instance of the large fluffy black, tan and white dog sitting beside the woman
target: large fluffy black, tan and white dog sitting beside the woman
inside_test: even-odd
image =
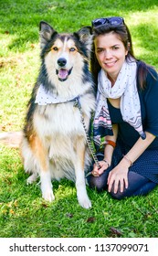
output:
[[[90,128],[95,90],[90,75],[90,27],[58,33],[44,21],[39,24],[41,66],[26,112],[21,154],[31,184],[40,177],[42,197],[55,199],[52,180],[75,182],[79,205],[90,208],[85,170],[90,150],[81,122]],[[78,107],[79,105],[79,107]]]

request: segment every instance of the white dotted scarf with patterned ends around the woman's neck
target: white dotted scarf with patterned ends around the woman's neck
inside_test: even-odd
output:
[[[121,115],[123,121],[130,123],[140,133],[142,139],[146,135],[142,131],[141,105],[136,84],[137,65],[133,60],[123,63],[121,71],[113,87],[103,69],[98,78],[97,110],[94,117],[94,143],[100,147],[100,138],[112,135],[111,116],[108,109],[107,98],[121,97]]]

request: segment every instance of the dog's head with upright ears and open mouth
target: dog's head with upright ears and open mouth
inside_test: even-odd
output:
[[[41,21],[39,31],[41,58],[45,61],[49,78],[68,80],[71,73],[78,73],[84,63],[89,62],[90,27],[82,27],[72,34],[59,34],[53,27]]]

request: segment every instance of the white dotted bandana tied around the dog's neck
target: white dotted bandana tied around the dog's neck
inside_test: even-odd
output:
[[[37,103],[40,106],[45,106],[47,104],[58,104],[58,103],[66,103],[68,101],[76,101],[79,96],[72,97],[69,99],[60,98],[57,95],[53,95],[49,91],[46,91],[44,86],[40,84],[38,91],[37,91],[37,97],[35,103]]]

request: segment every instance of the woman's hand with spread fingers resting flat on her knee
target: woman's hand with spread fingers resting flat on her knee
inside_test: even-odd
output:
[[[123,192],[124,187],[128,187],[128,170],[129,166],[125,165],[117,165],[115,168],[113,168],[108,176],[108,191],[111,192],[112,185],[113,187],[113,192],[116,194],[119,189],[120,185],[120,190]]]

